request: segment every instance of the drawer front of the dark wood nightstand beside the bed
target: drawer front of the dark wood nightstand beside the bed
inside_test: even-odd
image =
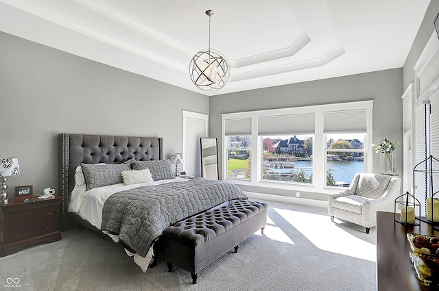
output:
[[[8,214],[5,243],[16,242],[58,230],[58,206],[37,207]]]

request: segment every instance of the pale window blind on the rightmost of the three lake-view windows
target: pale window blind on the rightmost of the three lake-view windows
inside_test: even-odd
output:
[[[340,110],[323,113],[325,134],[338,132],[366,132],[367,110]]]

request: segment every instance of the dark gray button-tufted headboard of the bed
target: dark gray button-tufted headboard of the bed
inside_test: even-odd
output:
[[[62,194],[62,214],[67,214],[77,166],[81,163],[120,164],[132,158],[163,160],[163,138],[59,134],[59,155],[58,193]]]

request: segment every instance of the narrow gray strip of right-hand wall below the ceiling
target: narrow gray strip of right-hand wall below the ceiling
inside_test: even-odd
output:
[[[414,73],[413,67],[419,58],[420,53],[422,53],[427,41],[429,40],[431,33],[435,31],[434,29],[434,19],[439,13],[439,0],[431,0],[425,12],[423,22],[421,23],[418,34],[414,39],[412,49],[410,49],[409,55],[407,55],[407,60],[403,67],[403,89],[407,88],[410,83],[414,83]],[[436,33],[436,32],[435,32]]]

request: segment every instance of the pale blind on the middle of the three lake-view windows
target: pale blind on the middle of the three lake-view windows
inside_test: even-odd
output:
[[[261,116],[258,118],[258,135],[313,134],[314,113]]]

